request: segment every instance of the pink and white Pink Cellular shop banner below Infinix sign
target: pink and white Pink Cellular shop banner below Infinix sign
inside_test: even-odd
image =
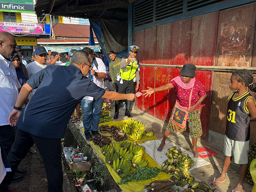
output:
[[[11,33],[44,34],[43,25],[38,25],[36,23],[0,22],[0,31],[9,31]]]

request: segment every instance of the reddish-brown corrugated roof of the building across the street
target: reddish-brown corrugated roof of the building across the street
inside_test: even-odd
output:
[[[53,23],[52,29],[55,37],[66,37],[66,38],[89,38],[90,37],[89,25]],[[93,35],[95,37],[95,34]]]

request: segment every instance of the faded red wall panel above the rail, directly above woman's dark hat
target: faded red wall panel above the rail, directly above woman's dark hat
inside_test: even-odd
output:
[[[189,61],[191,18],[172,23],[171,65],[184,65]]]

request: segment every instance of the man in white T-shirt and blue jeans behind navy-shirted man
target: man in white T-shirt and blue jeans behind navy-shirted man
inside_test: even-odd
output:
[[[106,78],[107,70],[103,61],[97,57],[93,57],[92,49],[86,47],[82,50],[86,52],[91,60],[89,78],[91,78],[98,87],[104,89],[103,79]],[[81,101],[84,134],[87,141],[92,140],[92,136],[99,135],[99,118],[101,117],[103,101],[104,99],[102,98],[95,100],[93,97],[84,97]]]

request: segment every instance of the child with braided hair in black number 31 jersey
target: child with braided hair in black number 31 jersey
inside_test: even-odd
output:
[[[226,181],[227,169],[234,156],[234,162],[240,165],[240,175],[237,186],[232,192],[244,192],[244,179],[248,166],[248,151],[250,139],[250,121],[256,121],[255,99],[248,92],[256,91],[253,74],[247,69],[232,73],[229,88],[234,92],[229,95],[227,104],[227,123],[224,138],[225,159],[221,176],[209,181],[214,187]]]

